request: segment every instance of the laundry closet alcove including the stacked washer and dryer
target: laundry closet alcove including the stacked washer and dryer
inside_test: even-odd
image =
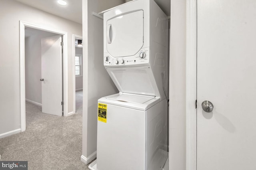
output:
[[[83,5],[83,31],[98,34],[87,34],[85,42],[84,81],[94,86],[84,83],[81,160],[97,157],[97,168],[91,167],[98,170],[162,170],[168,162],[168,16],[154,0],[119,2],[104,12],[99,4]]]

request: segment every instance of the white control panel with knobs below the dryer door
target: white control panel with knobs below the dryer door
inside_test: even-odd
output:
[[[109,53],[104,53],[105,67],[131,67],[131,66],[145,66],[149,65],[150,48],[142,48],[136,55],[125,57],[112,57]]]

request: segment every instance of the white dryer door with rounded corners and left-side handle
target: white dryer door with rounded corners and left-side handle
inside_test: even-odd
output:
[[[143,11],[112,18],[106,25],[107,50],[113,57],[132,56],[143,45]]]

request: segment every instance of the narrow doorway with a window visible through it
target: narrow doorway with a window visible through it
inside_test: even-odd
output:
[[[83,99],[83,44],[82,36],[73,35],[74,56],[74,112],[82,113]]]

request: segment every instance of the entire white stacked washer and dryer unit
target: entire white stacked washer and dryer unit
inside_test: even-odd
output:
[[[98,100],[97,160],[90,168],[162,170],[168,156],[168,20],[154,0],[104,12],[104,66],[119,93]]]

